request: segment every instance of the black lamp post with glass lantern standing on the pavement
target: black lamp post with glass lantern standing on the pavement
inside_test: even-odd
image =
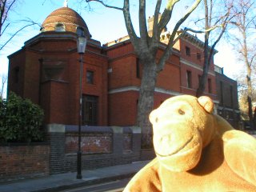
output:
[[[78,159],[77,159],[77,178],[82,178],[82,167],[81,167],[81,124],[82,124],[82,55],[86,52],[86,42],[87,37],[85,34],[85,30],[78,26],[77,28],[77,43],[78,43],[78,54],[80,55],[79,63],[80,63],[80,76],[79,76],[79,121],[78,121]]]

